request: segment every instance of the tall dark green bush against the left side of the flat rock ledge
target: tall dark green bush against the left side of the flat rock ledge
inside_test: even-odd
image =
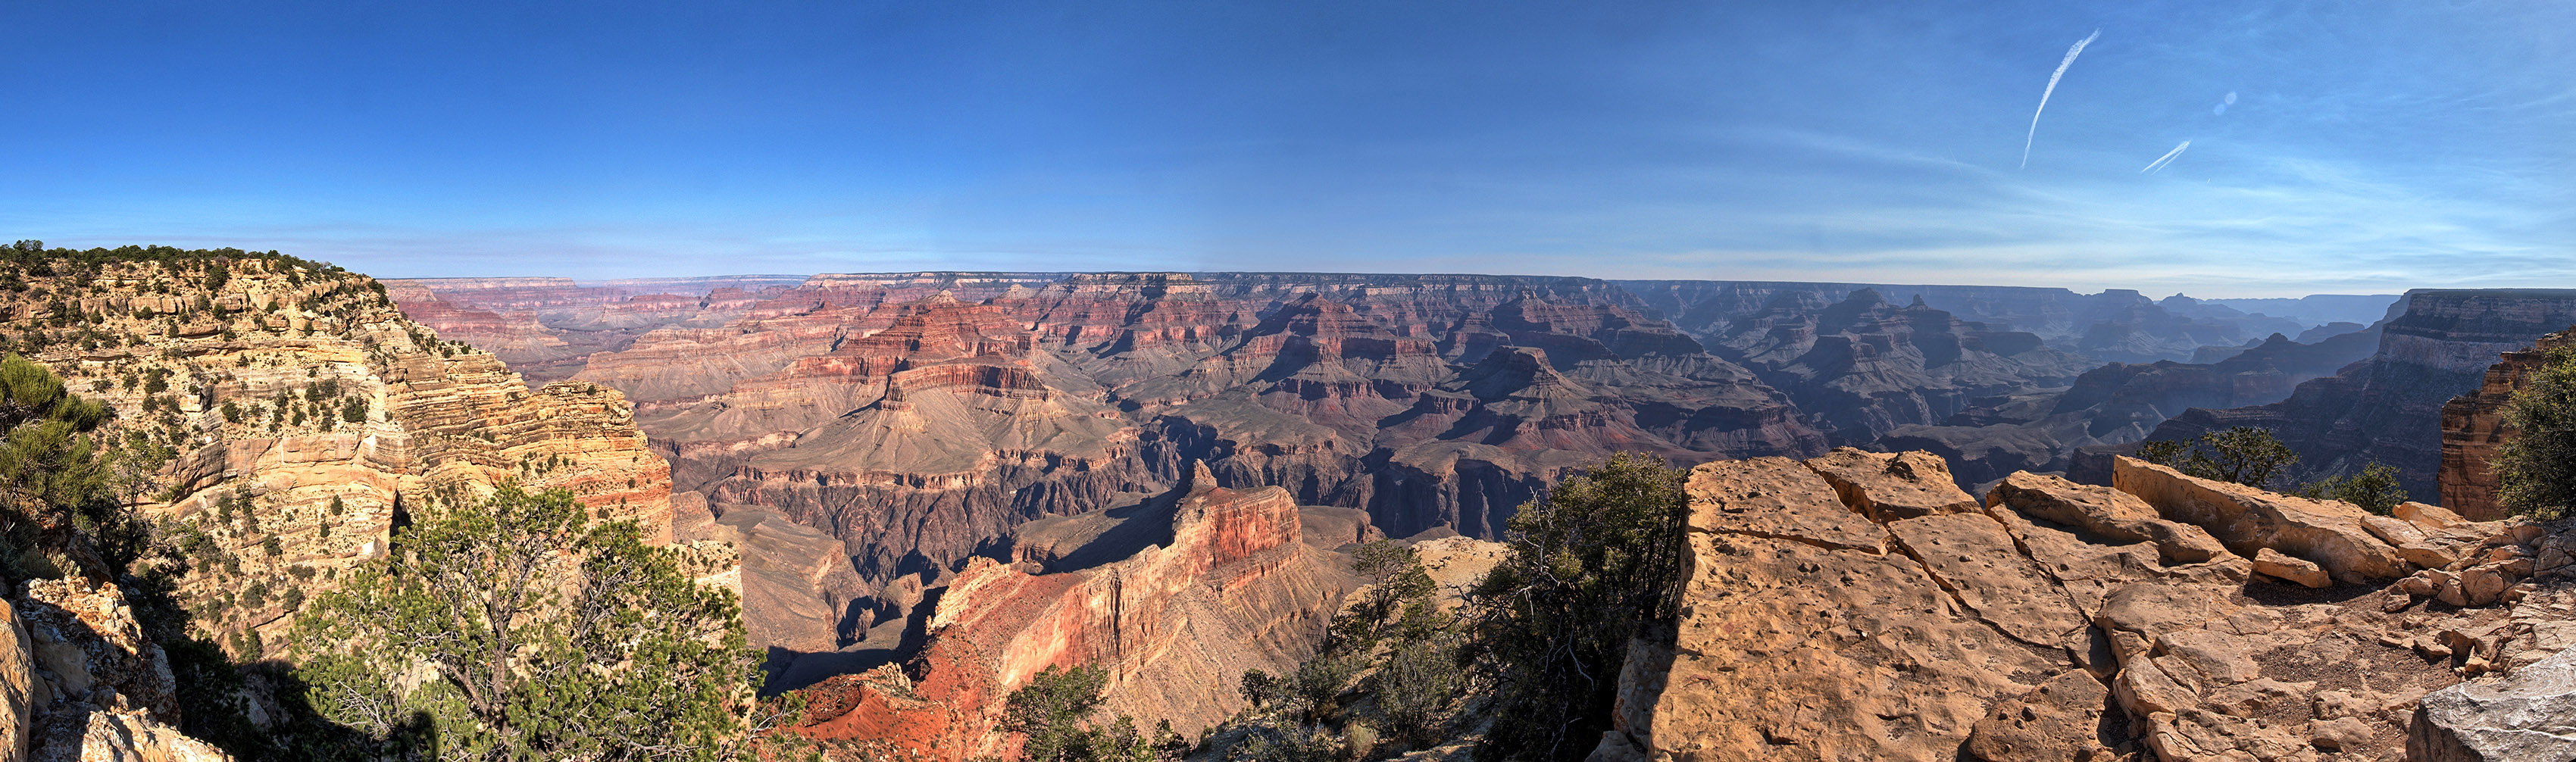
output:
[[[1499,680],[1479,759],[1582,759],[1610,729],[1628,638],[1674,615],[1682,476],[1620,453],[1512,515],[1510,556],[1476,590]]]

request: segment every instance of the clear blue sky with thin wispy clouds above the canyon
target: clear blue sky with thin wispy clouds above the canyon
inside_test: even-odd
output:
[[[2558,0],[526,5],[0,5],[0,237],[374,275],[2576,286]]]

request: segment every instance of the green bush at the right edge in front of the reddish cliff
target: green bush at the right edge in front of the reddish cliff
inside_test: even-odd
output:
[[[2530,381],[2504,409],[2496,497],[2514,515],[2563,517],[2576,507],[2576,348],[2550,350]]]

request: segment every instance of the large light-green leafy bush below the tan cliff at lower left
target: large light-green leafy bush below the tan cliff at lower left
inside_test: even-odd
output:
[[[399,530],[314,597],[296,651],[314,713],[453,759],[724,759],[757,680],[732,592],[515,484]]]

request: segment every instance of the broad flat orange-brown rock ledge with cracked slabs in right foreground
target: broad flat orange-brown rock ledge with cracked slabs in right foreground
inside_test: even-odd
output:
[[[2576,646],[2540,525],[1857,458],[1896,456],[1692,471],[1682,615],[1592,759],[2396,759],[2416,698]]]

